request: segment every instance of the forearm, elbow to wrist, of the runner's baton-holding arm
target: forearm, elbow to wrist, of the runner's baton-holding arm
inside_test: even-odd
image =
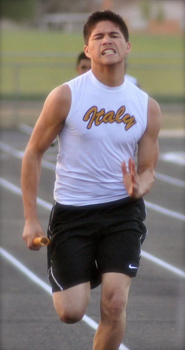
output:
[[[37,219],[36,198],[41,174],[41,155],[26,150],[21,169],[21,189],[26,220]]]

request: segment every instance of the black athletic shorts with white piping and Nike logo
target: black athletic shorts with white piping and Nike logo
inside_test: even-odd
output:
[[[147,235],[143,199],[74,207],[57,202],[48,226],[48,273],[52,291],[101,283],[106,272],[135,277]]]

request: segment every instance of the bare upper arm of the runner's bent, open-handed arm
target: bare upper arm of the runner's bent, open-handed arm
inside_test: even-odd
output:
[[[147,112],[147,127],[138,144],[137,173],[141,174],[145,169],[154,171],[159,147],[158,134],[161,125],[161,111],[157,102],[149,98]]]

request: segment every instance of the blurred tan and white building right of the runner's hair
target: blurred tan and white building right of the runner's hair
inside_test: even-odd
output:
[[[115,0],[114,10],[123,16],[133,31],[178,34],[185,29],[183,0]]]

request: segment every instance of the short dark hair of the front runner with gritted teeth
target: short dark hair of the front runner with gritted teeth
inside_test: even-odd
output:
[[[101,21],[111,21],[118,25],[119,29],[124,35],[124,38],[126,42],[129,41],[129,34],[128,34],[128,28],[126,23],[124,22],[123,18],[112,12],[111,10],[105,10],[105,11],[97,11],[93,12],[87,19],[85,25],[84,25],[84,42],[87,45],[88,39],[92,33],[92,30],[94,29],[95,25]]]

